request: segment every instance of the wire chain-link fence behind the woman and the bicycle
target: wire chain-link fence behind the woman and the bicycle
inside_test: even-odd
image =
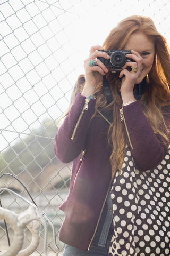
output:
[[[67,197],[71,174],[71,163],[65,165],[54,155],[57,120],[83,73],[83,60],[92,45],[101,45],[116,23],[132,14],[151,17],[169,41],[169,11],[166,0],[0,0],[0,175],[17,177],[53,221],[60,250],[49,227],[49,256],[62,255],[64,244],[57,237],[64,213],[59,206]],[[3,175],[0,185],[30,200],[10,175]],[[2,206],[15,213],[28,206],[6,191],[0,196]],[[32,255],[45,255],[43,228],[40,235]],[[24,247],[30,240],[25,230]],[[0,251],[7,247],[0,221]]]

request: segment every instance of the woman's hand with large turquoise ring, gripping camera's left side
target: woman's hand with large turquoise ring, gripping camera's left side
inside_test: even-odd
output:
[[[81,93],[82,96],[88,97],[93,95],[97,84],[99,83],[102,76],[106,75],[108,69],[97,57],[104,57],[109,59],[110,56],[106,52],[100,52],[97,50],[104,50],[100,45],[92,46],[90,49],[90,55],[87,60],[84,61],[85,70],[85,85]],[[96,66],[90,66],[89,61],[91,59],[96,59]]]

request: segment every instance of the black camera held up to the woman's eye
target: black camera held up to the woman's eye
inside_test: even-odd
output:
[[[131,51],[128,50],[103,50],[100,52],[106,52],[109,56],[111,56],[109,60],[106,60],[103,57],[98,57],[97,59],[103,62],[106,68],[113,73],[121,72],[122,67],[126,62],[134,62],[133,59],[129,59],[126,57],[126,54],[131,54]],[[126,69],[128,69],[128,71],[132,70],[131,67],[127,67]]]

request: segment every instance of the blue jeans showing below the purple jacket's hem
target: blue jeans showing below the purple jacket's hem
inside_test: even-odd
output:
[[[66,244],[63,256],[108,256],[109,246],[111,244],[113,234],[113,232],[109,231],[105,247],[92,243],[89,251],[82,251]]]

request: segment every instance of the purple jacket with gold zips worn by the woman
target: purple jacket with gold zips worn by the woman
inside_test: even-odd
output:
[[[96,100],[88,101],[80,93],[77,95],[55,140],[56,157],[63,163],[73,161],[69,196],[60,206],[65,219],[59,238],[84,251],[92,243],[112,186],[109,162],[112,147],[107,140],[109,123],[99,113],[90,122]],[[165,139],[154,134],[139,100],[122,110],[120,118],[123,118],[126,141],[135,163],[141,171],[156,167],[166,154]],[[169,113],[167,110],[165,114],[168,122]]]

